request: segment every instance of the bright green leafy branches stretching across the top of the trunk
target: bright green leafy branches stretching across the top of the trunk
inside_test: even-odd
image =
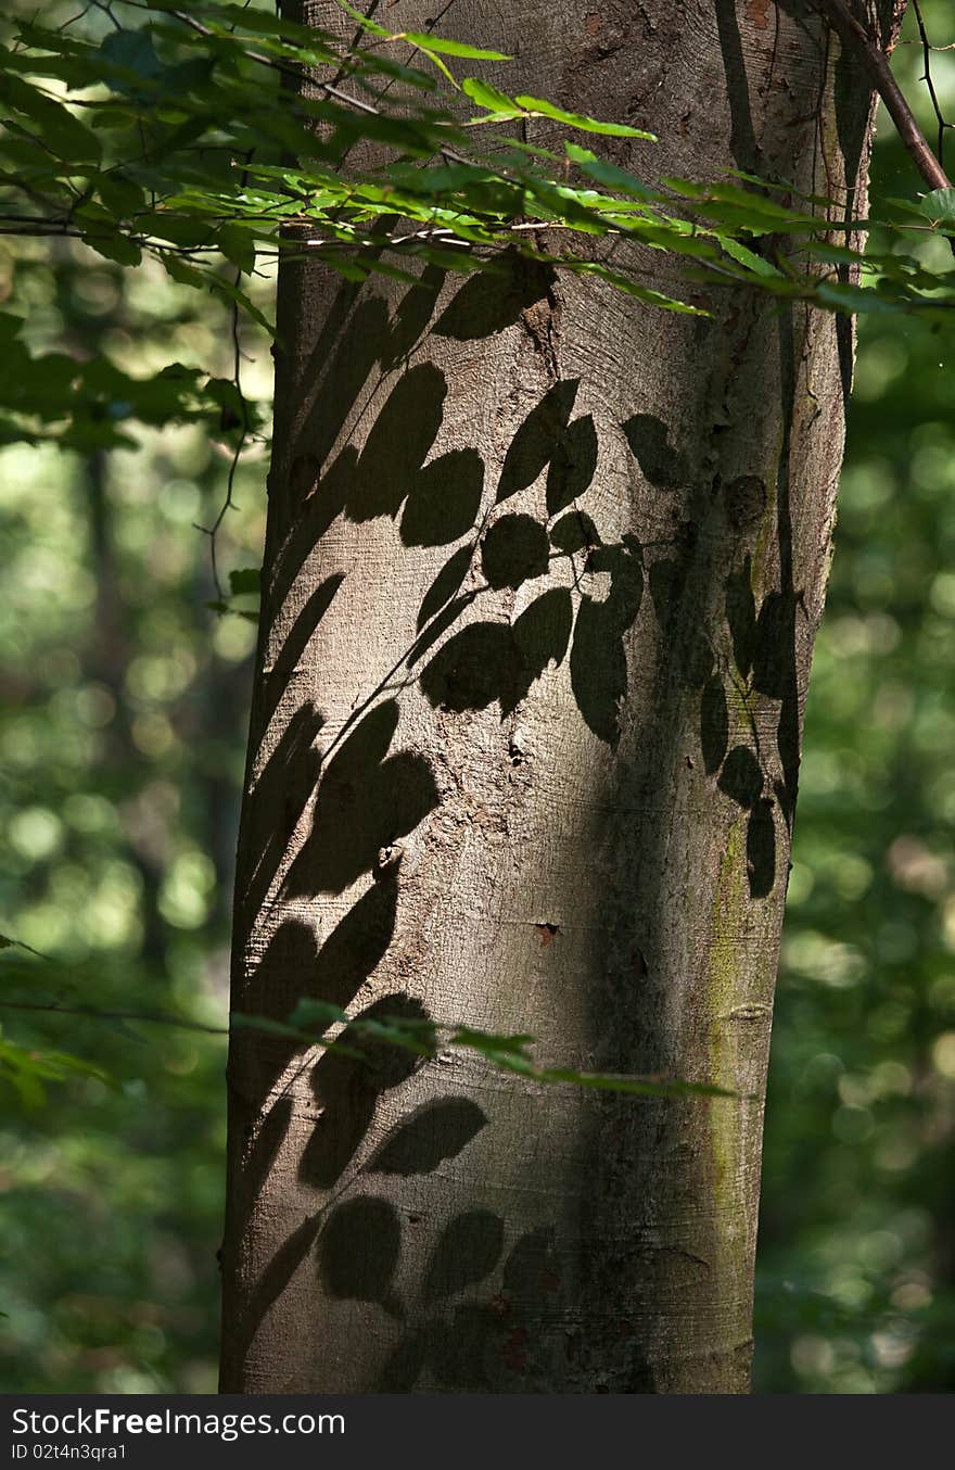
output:
[[[21,25],[13,46],[0,51],[9,134],[0,141],[0,229],[66,234],[120,265],[135,265],[145,251],[176,281],[219,293],[260,323],[238,279],[282,253],[317,253],[361,281],[375,270],[413,279],[403,265],[408,257],[486,269],[510,248],[602,276],[664,309],[707,310],[705,298],[688,301],[644,284],[646,266],[636,260],[611,269],[597,250],[611,237],[680,257],[688,285],[742,282],[830,309],[951,310],[948,282],[898,253],[854,254],[874,287],[871,303],[827,293],[837,278],[814,247],[835,222],[842,231],[867,223],[846,225],[833,201],[790,207],[780,197],[792,191],[764,179],[651,185],[573,143],[563,156],[530,146],[505,125],[544,118],[577,132],[654,138],[457,78],[450,62],[507,59],[432,32],[388,31],[341,3],[375,44],[347,46],[234,4],[204,4],[200,19],[162,0],[137,6],[150,18],[144,28],[120,26],[101,41]],[[839,0],[818,0],[817,9],[849,26],[845,34],[895,106],[923,173],[933,190],[946,188],[882,51]],[[200,54],[184,31],[200,38]],[[410,50],[432,72],[395,60],[395,50]],[[256,134],[273,160],[256,168],[248,168],[254,141],[244,121],[250,68],[275,76],[256,106]],[[350,166],[358,143],[373,150],[373,165]],[[300,160],[294,168],[282,162],[289,154]],[[914,219],[893,228],[948,234],[955,216],[937,206],[912,210]],[[542,231],[563,232],[570,248],[544,250]],[[768,248],[754,250],[760,241]],[[801,251],[808,270],[795,266]],[[223,278],[220,257],[238,272],[235,281]]]

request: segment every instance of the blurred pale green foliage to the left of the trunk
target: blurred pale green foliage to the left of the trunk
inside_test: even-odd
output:
[[[156,263],[1,241],[0,303],[26,318],[35,353],[104,354],[134,376],[173,360],[232,373],[228,309]],[[267,338],[244,326],[241,347],[244,390],[267,398]],[[222,1028],[256,629],[209,610],[195,526],[220,509],[234,435],[123,428],[137,447],[0,453],[0,928],[57,960],[4,950],[0,998]],[[262,560],[264,454],[253,442],[239,466],[225,570]],[[10,1010],[0,1023],[113,1083],[47,1082],[29,1107],[0,1055],[0,1385],[215,1389],[225,1038]]]

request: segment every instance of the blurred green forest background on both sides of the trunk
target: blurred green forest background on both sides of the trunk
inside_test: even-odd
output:
[[[936,44],[955,40],[945,0],[921,10]],[[904,34],[896,76],[937,141],[914,15]],[[931,79],[955,119],[955,50],[931,53]],[[955,132],[942,141],[955,156]],[[880,116],[874,194],[918,187]],[[254,287],[266,309],[270,290]],[[134,376],[173,360],[234,370],[226,304],[156,262],[0,238],[0,309],[25,318],[34,353],[104,354]],[[267,426],[269,341],[238,334],[242,391]],[[256,601],[239,575],[228,612],[210,606],[222,589],[197,529],[219,514],[235,435],[125,432],[134,444],[109,451],[0,448],[0,929],[100,1011],[175,1011],[200,1029],[0,1011],[0,1048],[66,1051],[106,1075],[40,1086],[0,1050],[7,1392],[216,1383],[220,1029]],[[266,467],[253,432],[216,537],[225,585],[262,559]],[[839,506],[773,1032],[755,1389],[951,1392],[951,329],[862,320]],[[0,1001],[22,964],[0,953]]]

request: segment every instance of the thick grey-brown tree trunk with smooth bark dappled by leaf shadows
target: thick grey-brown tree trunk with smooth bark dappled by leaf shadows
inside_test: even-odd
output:
[[[798,0],[470,0],[441,29],[511,53],[511,94],[657,132],[607,140],[644,176],[864,209],[868,87]],[[234,1008],[527,1032],[739,1097],[237,1032],[229,1392],[748,1391],[852,337],[644,268],[713,316],[519,262],[413,288],[284,268]]]

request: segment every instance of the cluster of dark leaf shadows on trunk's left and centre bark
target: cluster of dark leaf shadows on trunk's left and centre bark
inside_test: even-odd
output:
[[[404,323],[398,312],[406,363],[408,323],[419,326],[423,319],[423,295],[416,297],[416,291],[404,298],[413,298]],[[504,310],[483,284],[478,288],[469,282],[445,309],[436,331],[444,328],[453,340],[475,340],[510,325],[522,300],[519,291]],[[472,318],[475,301],[482,306]],[[400,520],[401,541],[410,550],[453,545],[467,537],[464,545],[451,551],[422,604],[419,637],[407,651],[410,682],[420,684],[433,707],[463,713],[497,701],[504,719],[548,666],[569,660],[570,689],[586,726],[610,748],[616,747],[627,697],[626,638],[639,616],[646,578],[654,578],[661,557],[660,548],[645,548],[636,537],[604,544],[592,516],[580,506],[595,481],[598,441],[592,416],[574,417],[579,382],[560,381],[529,410],[504,454],[491,513],[482,519],[480,454],[464,448],[428,460],[438,440],[445,395],[444,376],[433,365],[407,368],[367,431],[361,453],[345,444],[325,469],[338,432],[328,423],[341,426],[351,412],[342,385],[357,395],[364,388],[363,372],[367,376],[375,363],[394,360],[382,345],[388,338],[382,313],[358,306],[356,322],[369,335],[378,334],[378,347],[372,351],[366,341],[354,360],[342,347],[348,360],[342,360],[341,373],[335,357],[326,375],[331,379],[338,375],[331,401],[319,394],[306,417],[288,476],[291,492],[303,501],[303,514],[278,557],[269,589],[272,607],[288,597],[314,538],[339,516],[356,525],[379,516]],[[309,435],[322,404],[325,438],[316,442]],[[639,429],[651,448],[668,450],[671,479],[674,465],[680,470],[683,466],[668,445],[666,425],[644,415]],[[541,478],[542,513],[529,513],[525,500],[514,509],[517,497]],[[554,585],[554,573],[563,576],[563,585]],[[463,591],[469,575],[472,585]],[[658,589],[663,581],[666,576],[658,572],[651,589],[654,585]],[[514,612],[514,595],[530,584],[538,584],[535,595]],[[260,714],[263,726],[341,585],[339,576],[325,579],[292,622],[273,663],[273,682]],[[504,600],[498,617],[455,626],[478,597]],[[310,759],[298,761],[304,779],[288,808],[284,838],[272,850],[273,861],[260,864],[260,895],[275,888],[288,833],[303,825],[307,831],[298,853],[281,878],[282,904],[301,906],[320,894],[342,894],[369,873],[373,881],[320,945],[304,917],[286,917],[279,925],[245,989],[245,1008],[253,1014],[282,1020],[303,997],[347,1007],[388,953],[395,929],[397,882],[382,882],[376,873],[381,854],[413,832],[438,804],[426,761],[411,751],[391,748],[398,716],[400,697],[375,691],[322,751],[317,713],[311,723],[295,714],[294,748],[281,748],[259,778],[266,822],[272,785],[278,789],[279,778],[286,776],[288,756],[301,756],[303,741],[311,734]],[[403,1003],[410,1004],[407,997],[385,995],[357,1019],[398,1014]],[[357,1163],[382,1095],[407,1082],[420,1063],[407,1053],[385,1048],[383,1055],[392,1055],[391,1070],[376,1072],[369,1066],[364,1044],[356,1045],[357,1038],[348,1030],[341,1042],[361,1055],[332,1050],[309,1067],[317,1116],[297,1166],[298,1180],[325,1194],[326,1204],[292,1232],[262,1273],[244,1316],[247,1345],[262,1316],[313,1254],[332,1297],[376,1302],[398,1320],[401,1295],[407,1295],[407,1286],[398,1288],[400,1217],[388,1201],[364,1194],[361,1180],[373,1175],[432,1173],[488,1126],[483,1111],[467,1100],[432,1100],[397,1133],[388,1135],[370,1160]],[[267,1060],[267,1066],[259,1064],[256,1083],[264,1102],[288,1075],[298,1048],[294,1038],[269,1038],[264,1045],[257,1042],[257,1050]],[[259,1135],[262,1142],[256,1142],[250,1155],[248,1173],[257,1173],[259,1182],[282,1147],[279,1135],[286,1116],[281,1095],[272,1101]],[[348,1195],[344,1201],[342,1191]],[[256,1192],[251,1177],[248,1192]],[[522,1236],[507,1255],[504,1241],[505,1222],[494,1211],[464,1211],[445,1222],[417,1288],[429,1322],[428,1342],[414,1333],[403,1338],[382,1376],[383,1388],[400,1382],[410,1388],[423,1370],[442,1391],[478,1382],[488,1391],[514,1392],[535,1382],[541,1372],[536,1324],[552,1313],[554,1294],[561,1286],[554,1230],[542,1225]],[[498,1269],[502,1276],[495,1289],[491,1280]],[[461,1295],[467,1299],[454,1299]]]

